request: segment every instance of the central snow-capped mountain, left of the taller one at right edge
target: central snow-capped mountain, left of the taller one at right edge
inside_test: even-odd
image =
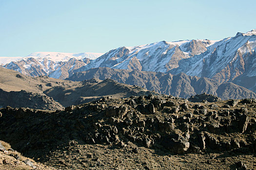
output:
[[[207,47],[215,42],[210,40],[161,41],[136,47],[120,47],[105,53],[76,71],[108,67],[166,72],[178,68],[180,60],[207,51]]]

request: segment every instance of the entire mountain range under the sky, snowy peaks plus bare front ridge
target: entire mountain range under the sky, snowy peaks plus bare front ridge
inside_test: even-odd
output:
[[[122,77],[118,75],[120,80],[115,80],[120,83],[140,85],[149,90],[156,90],[165,94],[174,94],[179,97],[189,97],[189,95],[204,91],[218,95],[223,99],[227,99],[227,97],[230,96],[237,99],[255,96],[255,50],[256,30],[252,30],[245,34],[237,33],[234,37],[227,37],[218,41],[207,39],[176,42],[160,41],[135,47],[119,47],[104,54],[36,52],[21,59],[15,58],[15,61],[11,61],[7,64],[4,58],[0,58],[0,62],[5,61],[5,64],[2,64],[3,68],[14,69],[32,77],[47,75],[52,78],[73,81],[80,81],[81,76],[80,78],[76,78],[76,76],[79,76],[81,72],[83,72],[81,74],[84,74],[84,71],[93,68],[105,67],[112,68],[113,70],[123,69],[129,70],[128,72],[131,70],[138,72],[149,71],[155,72],[156,75],[165,75],[165,77],[160,79],[158,77],[159,80],[151,81],[152,87],[150,87],[149,84],[143,85],[143,82],[146,81],[143,78],[140,82],[138,82],[138,80],[131,80],[131,78],[129,78],[131,81],[124,81],[125,76]],[[91,74],[93,71],[89,72]],[[168,77],[166,75],[172,76]],[[193,79],[194,76],[197,76],[196,79],[198,80],[214,82],[210,86],[221,85],[223,90],[227,87],[234,89],[233,87],[238,85],[236,87],[239,87],[242,91],[245,90],[247,95],[239,96],[234,93],[232,95],[219,95],[217,94],[216,86],[212,87],[215,90],[202,90],[200,88],[200,90],[195,90],[193,89],[194,87],[187,86],[187,88],[190,88],[189,90],[191,92],[186,93],[186,95],[180,95],[180,93],[176,94],[171,92],[174,91],[175,84],[172,85],[171,90],[170,87],[168,87],[169,89],[165,87],[166,83],[164,83],[164,81],[169,83],[173,82],[173,75],[177,75],[174,76],[175,78],[180,77],[178,75],[183,75],[183,77],[190,77],[189,79]],[[113,78],[113,76],[102,76]],[[83,77],[86,78],[88,76]],[[154,84],[154,81],[156,84]]]

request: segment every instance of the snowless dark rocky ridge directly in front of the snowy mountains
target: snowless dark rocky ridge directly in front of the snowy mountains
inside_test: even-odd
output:
[[[256,94],[242,86],[233,83],[218,83],[209,78],[188,76],[184,73],[156,73],[149,71],[124,70],[112,68],[92,68],[74,73],[66,80],[83,81],[88,79],[112,79],[119,83],[138,85],[158,93],[181,98],[207,93],[218,96],[222,100],[256,98]]]

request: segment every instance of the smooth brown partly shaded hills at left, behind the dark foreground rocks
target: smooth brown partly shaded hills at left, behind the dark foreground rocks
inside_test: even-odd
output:
[[[138,86],[112,80],[73,82],[49,78],[29,77],[17,71],[0,68],[0,106],[61,110],[64,107],[90,102],[102,97],[123,98],[148,95],[152,92]],[[63,107],[64,106],[64,107]]]

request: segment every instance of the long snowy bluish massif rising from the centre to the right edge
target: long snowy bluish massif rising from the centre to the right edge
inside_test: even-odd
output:
[[[183,72],[219,83],[233,82],[256,92],[256,30],[219,41],[161,41],[120,47],[74,71],[98,67],[172,74]]]

